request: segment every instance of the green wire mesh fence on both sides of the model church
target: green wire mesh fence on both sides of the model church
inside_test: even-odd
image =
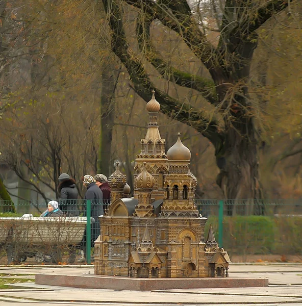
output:
[[[47,208],[47,202],[19,200],[12,204],[0,200],[0,217],[33,214],[40,216]],[[60,209],[66,216],[85,216],[87,220],[99,215],[108,203],[91,203],[85,200],[58,200]],[[302,201],[297,199],[196,199],[200,214],[208,218],[205,228],[207,236],[212,224],[220,247],[234,255],[246,258],[248,254],[296,254],[302,256]],[[89,209],[90,207],[90,209]],[[96,218],[97,219],[97,218]],[[94,240],[99,231],[98,223],[87,222],[82,249],[86,252],[86,262],[90,263],[89,241]],[[92,234],[90,238],[90,233]],[[94,237],[94,238],[93,238]],[[87,244],[87,245],[86,245]],[[93,250],[93,249],[92,249]]]

